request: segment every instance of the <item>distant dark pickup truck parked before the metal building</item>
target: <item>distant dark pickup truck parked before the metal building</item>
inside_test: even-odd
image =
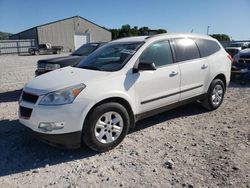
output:
[[[29,54],[38,55],[38,54],[60,54],[63,50],[63,46],[51,46],[50,43],[39,44],[38,47],[32,47],[28,49]]]

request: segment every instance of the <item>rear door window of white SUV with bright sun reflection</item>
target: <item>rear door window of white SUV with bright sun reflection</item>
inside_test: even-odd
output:
[[[192,39],[175,39],[176,61],[187,61],[200,58],[199,50]]]

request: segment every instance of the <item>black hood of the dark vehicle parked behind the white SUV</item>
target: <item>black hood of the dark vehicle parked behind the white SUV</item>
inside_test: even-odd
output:
[[[49,64],[60,64],[61,67],[73,66],[78,64],[81,60],[83,60],[86,56],[64,56],[64,57],[56,57],[51,59],[43,59],[39,60],[38,63],[49,63]]]

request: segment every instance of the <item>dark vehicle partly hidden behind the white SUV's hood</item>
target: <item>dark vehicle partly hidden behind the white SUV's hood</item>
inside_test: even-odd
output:
[[[87,43],[82,45],[69,56],[39,60],[37,62],[37,70],[35,74],[36,76],[39,76],[62,67],[75,66],[103,44],[103,42]]]

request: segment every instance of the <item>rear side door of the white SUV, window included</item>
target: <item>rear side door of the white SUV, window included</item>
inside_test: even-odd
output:
[[[180,100],[204,93],[204,85],[209,76],[207,59],[200,57],[199,49],[192,39],[174,39],[174,46],[181,72]]]

